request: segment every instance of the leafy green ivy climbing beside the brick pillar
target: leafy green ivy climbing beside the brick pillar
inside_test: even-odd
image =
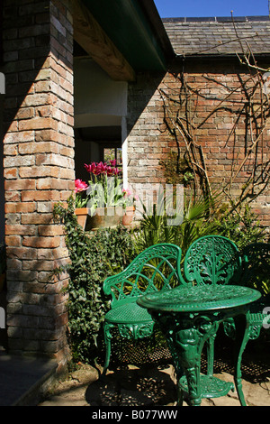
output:
[[[57,204],[54,217],[65,226],[70,257],[65,269],[70,277],[67,289],[69,346],[74,360],[91,363],[103,348],[101,330],[109,308],[103,295],[103,281],[130,263],[131,235],[122,226],[86,233],[77,224],[73,198],[68,199],[67,208]]]

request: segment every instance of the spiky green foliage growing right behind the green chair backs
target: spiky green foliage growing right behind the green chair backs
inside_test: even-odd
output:
[[[181,247],[182,260],[190,244],[203,235],[224,235],[237,244],[241,250],[251,243],[266,241],[266,231],[260,226],[257,216],[249,205],[232,210],[222,202],[221,194],[211,198],[184,195],[181,223],[169,225],[164,205],[157,201],[152,214],[144,208],[140,226],[135,231],[136,252],[139,253],[152,244],[173,243]]]

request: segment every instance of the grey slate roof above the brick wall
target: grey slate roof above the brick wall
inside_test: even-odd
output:
[[[231,17],[164,18],[167,35],[177,55],[231,55],[241,47]],[[234,18],[238,37],[245,51],[270,55],[270,20],[268,16]]]

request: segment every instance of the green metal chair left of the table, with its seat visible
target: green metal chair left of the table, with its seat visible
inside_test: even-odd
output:
[[[112,328],[118,327],[120,336],[140,339],[151,336],[154,322],[147,309],[140,308],[139,296],[155,290],[170,290],[184,283],[181,272],[182,251],[175,244],[155,244],[148,247],[117,275],[103,282],[103,291],[112,297],[111,309],[103,323],[106,348],[103,373],[110,364]]]

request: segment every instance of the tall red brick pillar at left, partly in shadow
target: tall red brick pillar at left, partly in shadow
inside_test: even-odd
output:
[[[4,0],[7,331],[12,352],[67,354],[67,263],[53,206],[74,188],[73,26],[65,0]]]

